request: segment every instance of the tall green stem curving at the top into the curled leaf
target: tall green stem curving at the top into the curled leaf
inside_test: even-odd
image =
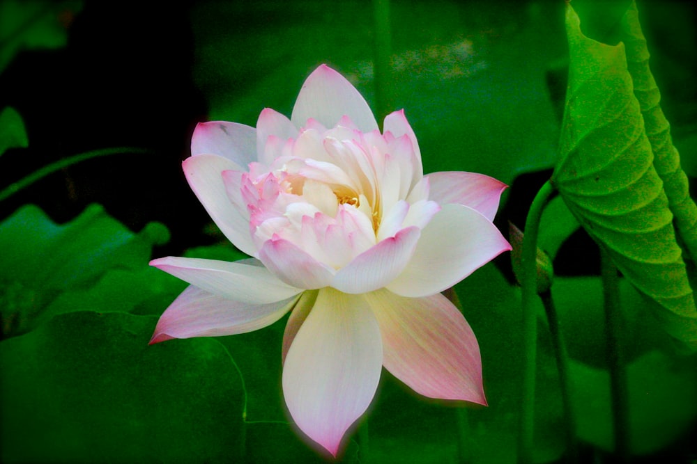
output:
[[[533,462],[533,436],[535,433],[535,361],[537,358],[537,232],[544,205],[554,193],[547,181],[539,189],[530,205],[523,236],[521,259],[521,287],[523,296],[523,386],[520,403],[520,431],[518,435],[518,461]]]

